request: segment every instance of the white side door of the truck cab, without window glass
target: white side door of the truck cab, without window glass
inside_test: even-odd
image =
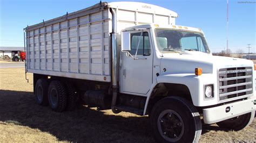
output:
[[[131,33],[142,33],[149,30],[131,31]],[[151,35],[149,35],[150,37]],[[143,42],[143,36],[141,37]],[[152,43],[150,41],[150,43]],[[152,45],[152,44],[151,44]],[[135,56],[135,55],[133,55]],[[130,55],[122,53],[122,66],[120,66],[120,92],[125,94],[136,93],[146,95],[152,85],[152,46],[150,55],[137,55],[137,60]]]

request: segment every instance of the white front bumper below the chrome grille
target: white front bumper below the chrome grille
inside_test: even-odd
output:
[[[213,124],[255,111],[256,105],[254,100],[256,100],[256,98],[251,97],[250,99],[244,101],[225,104],[214,108],[203,109],[204,123]],[[226,112],[227,108],[230,109],[228,112]]]

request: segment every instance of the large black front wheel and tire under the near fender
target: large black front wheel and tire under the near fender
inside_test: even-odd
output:
[[[194,106],[180,97],[166,97],[154,105],[150,124],[158,142],[198,142],[200,115]]]

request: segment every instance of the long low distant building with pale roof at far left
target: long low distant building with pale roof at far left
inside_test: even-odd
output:
[[[0,47],[0,58],[9,56],[9,58],[12,59],[12,56],[21,51],[24,51],[24,47]]]

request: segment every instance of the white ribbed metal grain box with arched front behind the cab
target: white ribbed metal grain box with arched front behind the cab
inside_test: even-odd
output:
[[[166,25],[174,24],[177,17],[176,12],[145,3],[113,2],[107,6],[108,9],[103,11],[98,10],[96,13],[60,23],[53,22],[50,26],[26,32],[28,71],[111,82],[110,8],[117,11],[118,57],[121,30],[154,21]],[[104,78],[97,78],[104,76],[107,77],[106,81]]]

